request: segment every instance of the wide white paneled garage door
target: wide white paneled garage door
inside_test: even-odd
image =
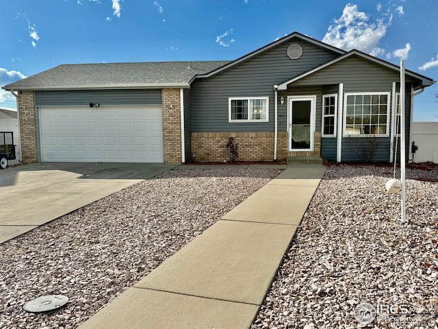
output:
[[[39,108],[43,162],[163,162],[157,106]]]

